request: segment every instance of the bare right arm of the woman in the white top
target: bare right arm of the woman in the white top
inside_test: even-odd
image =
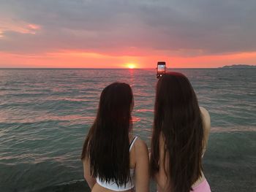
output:
[[[138,139],[135,142],[135,191],[149,191],[149,158],[146,143]]]

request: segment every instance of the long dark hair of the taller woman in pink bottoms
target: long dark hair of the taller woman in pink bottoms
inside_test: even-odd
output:
[[[173,192],[189,192],[201,177],[203,122],[195,91],[184,74],[170,72],[157,82],[151,140],[152,176],[159,172],[160,134],[165,143],[168,188]]]

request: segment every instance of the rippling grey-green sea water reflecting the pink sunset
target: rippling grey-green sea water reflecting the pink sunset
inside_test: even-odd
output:
[[[256,191],[256,69],[168,70],[187,75],[211,115],[211,191]],[[132,86],[133,133],[150,147],[154,69],[0,69],[0,191],[90,191],[83,140],[102,89],[116,81]]]

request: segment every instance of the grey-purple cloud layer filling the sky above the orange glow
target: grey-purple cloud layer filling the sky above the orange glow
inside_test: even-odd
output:
[[[0,50],[44,53],[139,49],[184,54],[256,51],[256,1],[0,0],[1,18],[41,28],[4,31]],[[0,26],[1,28],[1,26]],[[187,53],[186,53],[187,50]]]

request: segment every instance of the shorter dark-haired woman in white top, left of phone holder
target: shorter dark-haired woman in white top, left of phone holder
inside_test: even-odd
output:
[[[148,149],[131,134],[132,108],[132,89],[126,83],[114,82],[102,91],[81,155],[93,192],[148,192]]]

